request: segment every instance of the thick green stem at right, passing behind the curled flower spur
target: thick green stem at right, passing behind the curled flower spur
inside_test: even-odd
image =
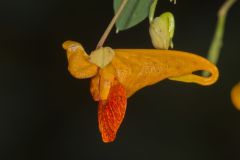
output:
[[[236,1],[237,0],[226,0],[218,11],[217,26],[207,56],[208,60],[210,60],[214,64],[217,64],[220,55],[220,50],[223,45],[223,35],[227,13]],[[203,72],[203,75],[208,76],[209,73]]]

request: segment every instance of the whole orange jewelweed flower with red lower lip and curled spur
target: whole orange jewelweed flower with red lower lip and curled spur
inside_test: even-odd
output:
[[[68,70],[78,79],[91,78],[90,92],[98,101],[98,125],[103,142],[112,142],[123,121],[127,98],[163,79],[211,85],[218,69],[208,60],[182,51],[111,49],[102,47],[88,55],[80,43],[66,41]],[[192,74],[206,70],[209,77]]]

